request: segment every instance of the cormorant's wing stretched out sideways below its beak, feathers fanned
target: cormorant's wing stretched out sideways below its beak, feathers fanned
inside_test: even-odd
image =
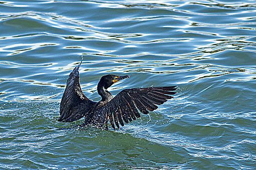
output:
[[[119,128],[119,123],[124,125],[123,120],[128,123],[139,118],[138,110],[143,114],[156,110],[156,104],[163,104],[167,99],[172,99],[173,96],[170,95],[175,94],[176,89],[176,86],[124,89],[108,102],[102,111],[108,116],[111,126],[115,129],[116,124]]]

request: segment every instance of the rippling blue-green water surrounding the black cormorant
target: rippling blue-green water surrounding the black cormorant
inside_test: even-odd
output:
[[[58,122],[70,71],[177,85],[119,130]],[[256,169],[255,0],[0,0],[1,170]]]

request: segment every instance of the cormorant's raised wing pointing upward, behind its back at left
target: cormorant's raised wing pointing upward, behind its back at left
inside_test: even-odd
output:
[[[81,62],[82,63],[82,62]],[[79,83],[79,67],[70,73],[67,86],[60,102],[60,117],[58,121],[75,121],[81,119],[90,111],[96,102],[89,100],[82,92]]]

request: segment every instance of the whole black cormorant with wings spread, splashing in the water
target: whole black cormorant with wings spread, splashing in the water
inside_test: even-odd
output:
[[[101,77],[98,82],[99,102],[89,100],[82,92],[79,83],[80,64],[70,73],[67,86],[60,102],[60,118],[58,121],[75,121],[85,117],[83,125],[92,125],[108,129],[107,123],[115,129],[133,119],[140,117],[138,110],[143,114],[156,110],[156,104],[162,104],[167,99],[172,99],[176,86],[130,88],[119,92],[114,98],[107,90],[114,83],[129,78],[108,74]],[[138,110],[137,110],[138,108]]]

